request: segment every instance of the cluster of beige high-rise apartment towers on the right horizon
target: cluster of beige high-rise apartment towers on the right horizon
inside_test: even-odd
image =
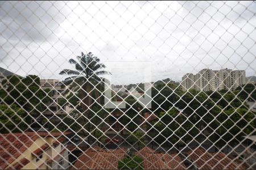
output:
[[[182,77],[183,90],[194,88],[203,91],[236,90],[246,83],[245,70],[203,69],[197,74],[187,73]]]

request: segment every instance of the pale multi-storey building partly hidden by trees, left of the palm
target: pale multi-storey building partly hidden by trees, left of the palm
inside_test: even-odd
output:
[[[40,79],[40,86],[43,90],[50,90],[49,97],[53,100],[44,106],[44,116],[61,116],[72,111],[72,108],[68,106],[60,107],[59,105],[59,101],[68,95],[64,93],[67,87],[63,82],[57,79]]]

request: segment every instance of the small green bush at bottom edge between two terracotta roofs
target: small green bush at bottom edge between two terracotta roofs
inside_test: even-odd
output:
[[[139,156],[119,160],[118,169],[143,169],[143,159]]]

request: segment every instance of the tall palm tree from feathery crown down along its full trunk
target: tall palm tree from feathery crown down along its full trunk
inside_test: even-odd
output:
[[[93,129],[93,124],[88,120],[97,113],[92,111],[93,104],[96,104],[96,101],[100,102],[102,97],[99,92],[103,90],[104,82],[108,82],[102,76],[110,73],[104,70],[105,65],[100,63],[100,59],[92,53],[81,53],[81,56],[77,56],[77,60],[69,59],[69,63],[75,66],[75,70],[64,69],[60,74],[69,75],[64,82],[68,86],[67,93],[69,91],[72,93],[67,97],[67,101],[62,101],[62,104],[75,107],[79,112],[76,114],[80,114],[78,118],[81,120],[81,129],[90,131]]]

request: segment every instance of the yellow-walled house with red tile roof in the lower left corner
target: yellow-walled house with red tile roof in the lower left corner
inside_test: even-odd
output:
[[[67,169],[68,133],[24,132],[0,134],[0,169]]]

